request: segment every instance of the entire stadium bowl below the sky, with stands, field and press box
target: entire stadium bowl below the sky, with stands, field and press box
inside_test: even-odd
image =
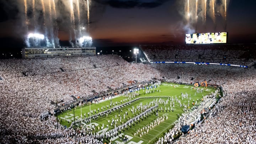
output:
[[[255,143],[255,47],[140,46],[138,63],[96,48],[24,48],[25,59],[0,61],[0,140]]]

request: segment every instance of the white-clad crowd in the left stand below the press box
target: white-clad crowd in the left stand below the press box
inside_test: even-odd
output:
[[[75,101],[74,97],[89,97],[109,88],[115,90],[159,79],[160,75],[150,65],[130,64],[117,55],[5,59],[0,67],[0,141],[3,143],[31,143],[39,135],[59,133],[72,140],[74,130],[62,126],[57,129],[54,118],[41,121],[41,113],[52,111],[56,101],[59,106],[65,105]],[[86,141],[93,140],[94,135],[88,138]]]

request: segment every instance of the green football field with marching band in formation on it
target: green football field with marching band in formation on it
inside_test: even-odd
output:
[[[146,89],[136,91],[137,96],[135,96],[135,98],[139,99],[134,102],[131,102],[130,105],[122,107],[120,111],[115,110],[114,112],[111,112],[108,115],[97,117],[97,119],[91,119],[91,125],[94,125],[95,127],[95,130],[93,129],[92,132],[100,134],[105,133],[108,130],[113,129],[115,125],[119,126],[127,122],[129,119],[134,118],[138,114],[142,113],[144,110],[139,110],[139,106],[150,105],[151,103],[151,107],[153,106],[153,103],[158,103],[157,109],[159,116],[156,116],[156,111],[152,111],[149,115],[143,117],[143,119],[140,118],[140,121],[134,122],[134,125],[131,124],[131,127],[128,126],[124,129],[124,131],[120,131],[118,133],[119,135],[116,135],[116,137],[113,136],[111,139],[103,140],[103,143],[110,143],[111,140],[111,143],[123,144],[124,135],[126,135],[128,139],[125,143],[127,144],[154,143],[156,142],[156,140],[163,137],[166,132],[169,132],[169,130],[174,126],[174,122],[178,119],[178,114],[183,113],[183,105],[186,105],[187,108],[189,109],[193,107],[193,101],[194,103],[197,103],[197,105],[200,105],[203,96],[210,95],[211,92],[214,92],[216,90],[212,87],[208,87],[207,89],[204,89],[204,87],[199,88],[202,90],[198,90],[198,88],[193,89],[192,85],[162,83],[156,88],[147,90],[147,94]],[[73,109],[67,110],[65,112],[62,112],[62,114],[59,114],[58,118],[60,119],[60,123],[63,126],[70,127],[71,122],[74,120],[74,114],[75,119],[80,119],[81,114],[82,118],[84,119],[85,117],[88,117],[88,113],[89,116],[92,116],[95,113],[97,114],[99,112],[110,109],[111,102],[112,104],[114,103],[114,106],[118,106],[122,105],[125,102],[134,100],[135,98],[131,98],[130,95],[131,94],[128,94],[126,96],[115,96],[113,98],[106,98],[104,101],[101,101],[96,104],[91,103],[91,105],[84,104],[84,106],[82,107],[77,106],[74,112]],[[174,99],[174,101],[172,101],[172,98]],[[182,107],[180,106],[180,103],[178,101],[180,101]],[[133,112],[131,111],[132,109]],[[150,124],[153,123],[154,125],[154,121],[156,121],[156,119],[159,119],[160,117],[164,118],[164,121],[161,121],[159,124],[157,123],[154,126],[154,128],[149,128]],[[111,126],[112,120],[117,122],[114,122]],[[79,129],[86,129],[86,127],[90,128],[90,122],[86,123],[83,121],[81,123],[76,124],[76,128]],[[143,129],[143,127],[145,129]],[[137,133],[138,130],[139,133]]]

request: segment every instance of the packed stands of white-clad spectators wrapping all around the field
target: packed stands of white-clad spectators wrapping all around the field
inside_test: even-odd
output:
[[[150,61],[176,59],[253,65],[254,47],[246,45],[142,46]],[[225,58],[224,58],[225,57]],[[182,74],[183,72],[183,74]],[[180,78],[178,78],[178,76]],[[225,96],[208,119],[174,143],[255,143],[256,70],[219,65],[128,63],[118,55],[0,60],[1,143],[102,143],[101,135],[75,134],[43,112],[75,101],[150,80],[209,80]],[[193,79],[191,79],[193,78]],[[180,124],[187,115],[178,121]],[[171,143],[180,125],[158,139]],[[75,137],[76,135],[76,137]],[[45,139],[38,139],[43,137]]]

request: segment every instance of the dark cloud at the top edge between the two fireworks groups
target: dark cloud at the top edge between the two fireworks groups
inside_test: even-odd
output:
[[[154,8],[164,4],[166,1],[169,0],[151,0],[151,1],[143,1],[143,0],[95,0],[98,3],[109,5],[115,8],[121,9],[131,9],[131,8]]]

